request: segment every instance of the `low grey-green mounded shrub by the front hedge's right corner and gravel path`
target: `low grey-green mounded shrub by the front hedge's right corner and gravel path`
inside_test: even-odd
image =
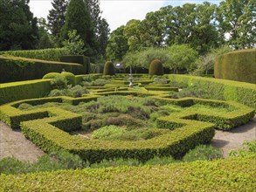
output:
[[[221,158],[223,158],[222,149],[212,146],[199,145],[185,154],[183,156],[183,161],[211,161]]]

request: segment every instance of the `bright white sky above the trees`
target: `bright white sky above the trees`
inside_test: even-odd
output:
[[[209,2],[218,4],[221,0]],[[52,9],[53,0],[31,0],[30,7],[34,17],[47,18]],[[109,28],[114,31],[122,24],[127,24],[130,19],[142,20],[150,11],[159,10],[161,7],[172,5],[180,6],[183,3],[203,3],[201,0],[100,0],[102,17],[107,19]]]

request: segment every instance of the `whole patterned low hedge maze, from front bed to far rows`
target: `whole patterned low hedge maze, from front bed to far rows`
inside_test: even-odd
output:
[[[121,87],[118,82],[120,80],[115,80],[112,86],[108,85],[104,88],[88,86],[87,89],[93,92],[80,98],[59,96],[22,99],[4,104],[0,108],[0,120],[3,120],[11,128],[20,127],[24,136],[45,152],[65,149],[73,154],[79,154],[84,160],[90,162],[119,157],[147,161],[156,155],[180,157],[191,148],[211,141],[215,134],[215,128],[227,131],[239,127],[251,120],[255,113],[252,107],[232,100],[171,99],[169,93],[177,91],[177,87],[145,85],[136,90],[126,86]],[[156,127],[167,131],[148,140],[106,141],[86,139],[70,134],[72,131],[81,129],[82,117],[78,113],[55,106],[27,111],[17,108],[23,103],[37,106],[48,102],[68,103],[76,106],[80,105],[80,102],[86,103],[107,97],[107,95],[133,95],[133,97],[155,99],[161,105],[175,105],[184,110],[158,117]],[[225,108],[226,113],[215,113],[211,109],[204,110],[200,107],[195,108],[196,105]]]

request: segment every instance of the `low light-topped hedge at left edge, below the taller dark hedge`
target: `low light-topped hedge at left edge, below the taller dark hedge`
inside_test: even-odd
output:
[[[44,97],[50,91],[50,79],[0,84],[0,105],[14,100]]]

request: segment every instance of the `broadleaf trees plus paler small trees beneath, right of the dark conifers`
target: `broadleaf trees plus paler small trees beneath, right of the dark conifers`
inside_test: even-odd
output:
[[[163,7],[112,31],[107,58],[135,69],[158,58],[167,72],[212,74],[218,55],[255,47],[255,7],[253,0]]]

